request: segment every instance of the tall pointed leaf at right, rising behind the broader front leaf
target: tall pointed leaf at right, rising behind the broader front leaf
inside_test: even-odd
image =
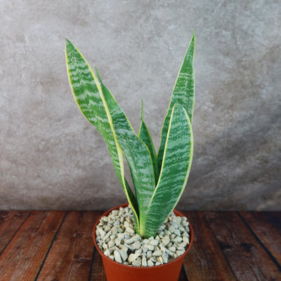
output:
[[[193,67],[194,53],[195,35],[193,34],[188,46],[188,51],[185,54],[183,64],[181,65],[181,70],[178,73],[176,84],[171,96],[169,109],[166,113],[166,117],[162,126],[161,141],[157,155],[159,169],[161,169],[162,166],[166,135],[171,118],[171,111],[175,103],[180,103],[185,108],[185,111],[188,113],[188,117],[190,118],[190,122],[192,123],[195,103],[195,73]]]

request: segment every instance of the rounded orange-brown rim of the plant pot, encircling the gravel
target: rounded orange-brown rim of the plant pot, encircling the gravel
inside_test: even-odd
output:
[[[123,263],[117,263],[117,261],[113,261],[112,259],[110,259],[108,256],[105,256],[105,254],[103,254],[103,251],[100,250],[100,248],[98,247],[98,244],[96,242],[96,226],[98,226],[98,223],[100,222],[100,218],[102,218],[103,216],[107,216],[107,214],[109,214],[111,211],[119,209],[120,207],[126,208],[129,206],[129,203],[124,203],[124,204],[120,204],[116,207],[113,207],[111,209],[109,209],[108,211],[105,211],[96,221],[95,225],[93,226],[93,243],[95,244],[96,249],[98,249],[98,252],[100,253],[100,256],[102,256],[103,259],[106,259],[107,261],[110,261],[112,263],[117,264],[118,266],[120,266],[121,268],[133,268],[136,270],[151,270],[152,268],[162,268],[164,266],[167,266],[171,263],[176,263],[178,262],[180,259],[183,259],[186,254],[188,254],[188,251],[190,250],[190,247],[193,243],[193,239],[194,239],[194,233],[193,233],[193,228],[190,225],[190,222],[188,221],[189,225],[189,229],[190,229],[190,242],[188,244],[188,248],[185,250],[184,254],[182,254],[181,256],[178,256],[176,259],[173,259],[172,261],[169,261],[168,263],[164,263],[164,264],[160,264],[159,266],[141,266],[141,267],[137,267],[137,266],[129,266]],[[181,212],[179,211],[175,211],[176,216],[183,216],[183,214],[181,214]]]

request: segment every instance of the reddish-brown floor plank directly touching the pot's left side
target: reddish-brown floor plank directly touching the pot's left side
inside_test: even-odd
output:
[[[89,280],[93,226],[100,211],[70,211],[48,252],[37,281]]]

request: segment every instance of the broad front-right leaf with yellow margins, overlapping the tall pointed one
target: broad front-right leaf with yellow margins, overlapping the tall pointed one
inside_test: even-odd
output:
[[[171,112],[159,181],[150,201],[146,237],[157,230],[176,207],[188,181],[193,155],[193,137],[187,112],[176,103]]]

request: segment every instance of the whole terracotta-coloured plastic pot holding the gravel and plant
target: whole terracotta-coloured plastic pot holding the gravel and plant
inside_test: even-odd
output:
[[[107,216],[110,211],[119,209],[120,207],[127,207],[128,204],[122,204],[117,207],[106,211],[102,216]],[[176,216],[183,216],[178,211],[174,211]],[[100,216],[100,218],[102,217]],[[188,250],[191,247],[193,242],[193,229],[192,226],[189,225],[190,228],[190,244],[188,249],[186,249],[185,253],[178,258],[170,261],[169,263],[164,263],[160,266],[152,266],[152,267],[134,267],[134,266],[126,266],[122,263],[117,263],[116,261],[112,261],[112,259],[108,258],[100,251],[98,244],[96,243],[96,226],[98,225],[100,218],[96,222],[93,228],[93,242],[100,253],[100,256],[103,259],[103,266],[105,268],[105,274],[107,277],[107,281],[178,281],[178,277],[181,272],[181,266],[183,265],[183,259],[188,254]]]

